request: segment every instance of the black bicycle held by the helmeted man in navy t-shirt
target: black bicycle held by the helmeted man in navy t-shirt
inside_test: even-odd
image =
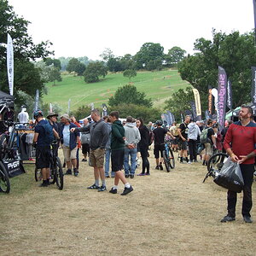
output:
[[[58,151],[58,143],[51,144],[51,152],[49,158],[49,183],[54,184],[56,183],[58,189],[63,189],[64,186],[64,178],[63,178],[63,171],[61,160],[57,156]],[[36,182],[42,180],[42,173],[41,169],[38,169],[37,166],[35,167],[35,180]]]

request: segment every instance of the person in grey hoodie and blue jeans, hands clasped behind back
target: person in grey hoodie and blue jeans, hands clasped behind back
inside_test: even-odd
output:
[[[132,122],[132,117],[127,116],[125,123],[125,158],[124,158],[124,167],[125,167],[125,177],[133,178],[135,175],[136,169],[136,157],[137,157],[137,143],[141,140],[141,135]],[[129,156],[131,157],[131,166],[129,165]]]

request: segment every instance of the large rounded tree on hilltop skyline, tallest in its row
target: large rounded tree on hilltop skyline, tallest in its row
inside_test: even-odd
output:
[[[152,61],[163,61],[164,47],[160,44],[145,43],[134,56],[137,69],[148,67],[148,62],[151,61],[149,67],[152,67]],[[159,68],[159,66],[157,66]]]

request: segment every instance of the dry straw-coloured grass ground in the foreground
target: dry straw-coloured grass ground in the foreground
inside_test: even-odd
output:
[[[226,190],[212,177],[202,183],[205,166],[177,164],[167,173],[154,170],[153,157],[150,163],[151,175],[130,179],[134,191],[126,196],[121,183],[117,195],[86,189],[94,178],[84,162],[62,191],[38,188],[26,166],[29,189],[0,196],[0,254],[255,255],[256,210],[253,224],[245,224],[241,194],[236,221],[222,224]],[[108,178],[108,190],[112,185]],[[254,202],[255,192],[254,183]]]

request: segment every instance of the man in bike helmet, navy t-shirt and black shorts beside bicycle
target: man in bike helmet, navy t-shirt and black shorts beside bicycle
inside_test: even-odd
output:
[[[36,166],[38,169],[41,169],[43,176],[43,183],[40,186],[47,187],[49,185],[50,144],[47,143],[44,131],[44,125],[48,121],[44,120],[43,116],[44,114],[41,110],[34,112],[34,119],[36,119],[37,125],[35,126],[33,142],[36,143]]]

